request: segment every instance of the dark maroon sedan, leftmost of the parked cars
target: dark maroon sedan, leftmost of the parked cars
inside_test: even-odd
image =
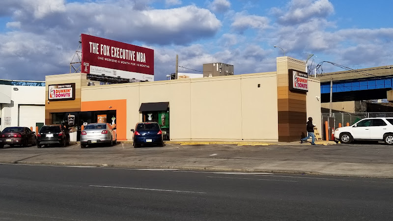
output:
[[[34,132],[27,127],[6,127],[0,133],[0,148],[3,148],[5,144],[24,147],[28,146],[28,144],[35,146],[37,138]]]

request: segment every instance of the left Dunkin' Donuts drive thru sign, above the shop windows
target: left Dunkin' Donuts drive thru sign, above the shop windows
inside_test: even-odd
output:
[[[52,84],[48,86],[49,101],[75,100],[75,83]]]

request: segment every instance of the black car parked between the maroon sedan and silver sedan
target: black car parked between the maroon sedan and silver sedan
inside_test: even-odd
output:
[[[68,129],[62,125],[44,125],[37,134],[37,147],[43,145],[61,145],[70,144],[70,134]]]

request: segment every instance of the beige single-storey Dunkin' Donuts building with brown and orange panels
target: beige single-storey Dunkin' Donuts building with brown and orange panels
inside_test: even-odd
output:
[[[276,72],[92,86],[81,73],[47,76],[46,85],[75,83],[75,98],[50,101],[47,87],[46,123],[74,114],[81,125],[105,115],[119,140],[131,140],[137,122],[154,120],[174,141],[296,141],[307,135],[307,117],[321,128],[319,81],[310,78],[307,93],[288,87],[288,69],[304,67],[278,57]]]

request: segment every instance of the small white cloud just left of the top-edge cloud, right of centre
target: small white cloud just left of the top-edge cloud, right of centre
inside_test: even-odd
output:
[[[248,28],[263,30],[269,28],[269,19],[263,16],[236,13],[231,27],[240,32]]]

